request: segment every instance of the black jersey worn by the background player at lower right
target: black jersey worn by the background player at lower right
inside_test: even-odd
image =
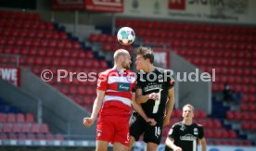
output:
[[[183,151],[197,151],[198,139],[204,137],[204,130],[202,125],[192,123],[191,125],[185,125],[184,122],[178,122],[173,124],[168,137],[173,138],[174,145],[177,145],[183,149]],[[171,151],[173,149],[165,146],[165,151]]]

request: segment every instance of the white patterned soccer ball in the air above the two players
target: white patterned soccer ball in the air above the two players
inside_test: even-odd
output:
[[[133,44],[135,40],[135,32],[130,27],[122,27],[117,33],[117,39],[122,45]]]

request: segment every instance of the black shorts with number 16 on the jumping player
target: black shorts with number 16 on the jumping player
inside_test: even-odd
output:
[[[155,119],[156,120],[156,119]],[[138,141],[140,135],[144,132],[143,141],[160,145],[162,135],[162,118],[156,120],[155,126],[150,126],[141,116],[133,113],[130,119],[130,135]]]

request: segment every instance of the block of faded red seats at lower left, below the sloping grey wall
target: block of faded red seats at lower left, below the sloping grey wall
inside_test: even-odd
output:
[[[2,106],[12,107],[0,98]],[[11,111],[6,109],[0,112],[0,140],[64,140],[61,134],[50,132],[46,123],[36,123],[31,113]],[[53,139],[48,139],[51,136]]]

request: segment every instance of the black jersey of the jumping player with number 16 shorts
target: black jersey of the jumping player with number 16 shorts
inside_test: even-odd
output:
[[[147,100],[141,104],[148,118],[162,119],[165,105],[168,101],[168,90],[173,88],[171,72],[167,69],[155,68],[152,72],[137,73],[136,89],[142,89],[142,94],[159,94],[159,100]]]

